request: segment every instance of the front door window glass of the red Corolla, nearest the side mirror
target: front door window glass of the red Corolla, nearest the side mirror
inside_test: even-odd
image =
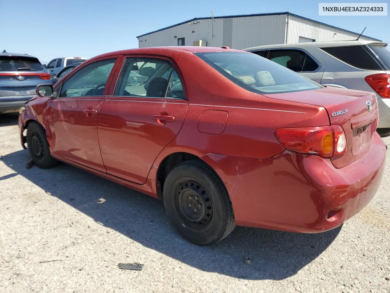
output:
[[[112,67],[117,59],[91,63],[74,73],[62,85],[60,98],[78,96],[103,96]]]

